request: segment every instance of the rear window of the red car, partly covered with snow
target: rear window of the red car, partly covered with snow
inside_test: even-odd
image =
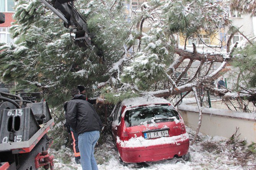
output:
[[[170,122],[180,119],[178,112],[170,105],[143,106],[125,112],[126,127],[149,123]]]

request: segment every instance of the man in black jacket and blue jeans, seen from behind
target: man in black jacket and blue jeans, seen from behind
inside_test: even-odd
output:
[[[79,94],[79,90],[76,93],[77,95],[67,104],[66,121],[79,135],[78,148],[83,170],[98,170],[94,147],[103,125],[94,107],[86,100],[86,96]]]

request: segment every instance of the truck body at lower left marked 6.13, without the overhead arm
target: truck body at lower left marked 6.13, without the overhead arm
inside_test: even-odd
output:
[[[41,101],[37,102],[41,98]],[[48,154],[54,125],[42,92],[11,94],[0,88],[0,170],[53,170]]]

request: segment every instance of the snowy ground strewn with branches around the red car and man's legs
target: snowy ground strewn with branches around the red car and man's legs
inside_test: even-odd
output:
[[[190,132],[189,128],[187,132]],[[147,163],[148,167],[137,164],[129,164],[128,167],[124,167],[119,164],[117,151],[111,137],[109,135],[109,139],[96,148],[95,157],[99,170],[256,170],[255,154],[247,157],[246,161],[243,160],[244,165],[242,166],[240,157],[243,154],[240,154],[240,151],[244,149],[243,146],[226,144],[228,139],[219,136],[204,135],[200,135],[201,141],[190,146],[191,160],[188,162],[174,158],[149,162]],[[71,149],[63,148],[59,151],[51,149],[50,154],[55,157],[55,170],[82,170],[81,166],[75,163]],[[238,155],[238,157],[234,157],[234,155]]]

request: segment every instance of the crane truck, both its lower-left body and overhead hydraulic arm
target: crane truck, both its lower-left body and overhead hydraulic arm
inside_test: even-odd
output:
[[[76,11],[74,0],[40,0],[55,13],[78,47],[91,45],[91,34],[86,19]],[[0,24],[5,15],[0,13]],[[40,102],[37,100],[42,96]],[[47,132],[54,125],[49,106],[41,92],[11,94],[0,88],[0,170],[53,170],[53,156],[48,149],[53,142]]]

